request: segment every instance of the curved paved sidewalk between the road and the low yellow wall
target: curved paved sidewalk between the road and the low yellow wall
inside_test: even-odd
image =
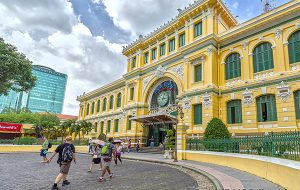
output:
[[[150,154],[150,153],[125,153],[122,155],[123,158],[132,159],[132,160],[143,160],[149,162],[161,162],[167,164],[175,164],[179,166],[185,166],[192,168],[194,170],[208,175],[208,177],[215,181],[219,182],[222,189],[270,189],[270,190],[283,190],[284,188],[274,184],[270,181],[257,177],[255,175],[236,170],[229,167],[208,164],[203,162],[189,161],[189,160],[180,160],[178,162],[173,162],[170,159],[164,159],[161,154]],[[247,163],[245,163],[247,164]]]

